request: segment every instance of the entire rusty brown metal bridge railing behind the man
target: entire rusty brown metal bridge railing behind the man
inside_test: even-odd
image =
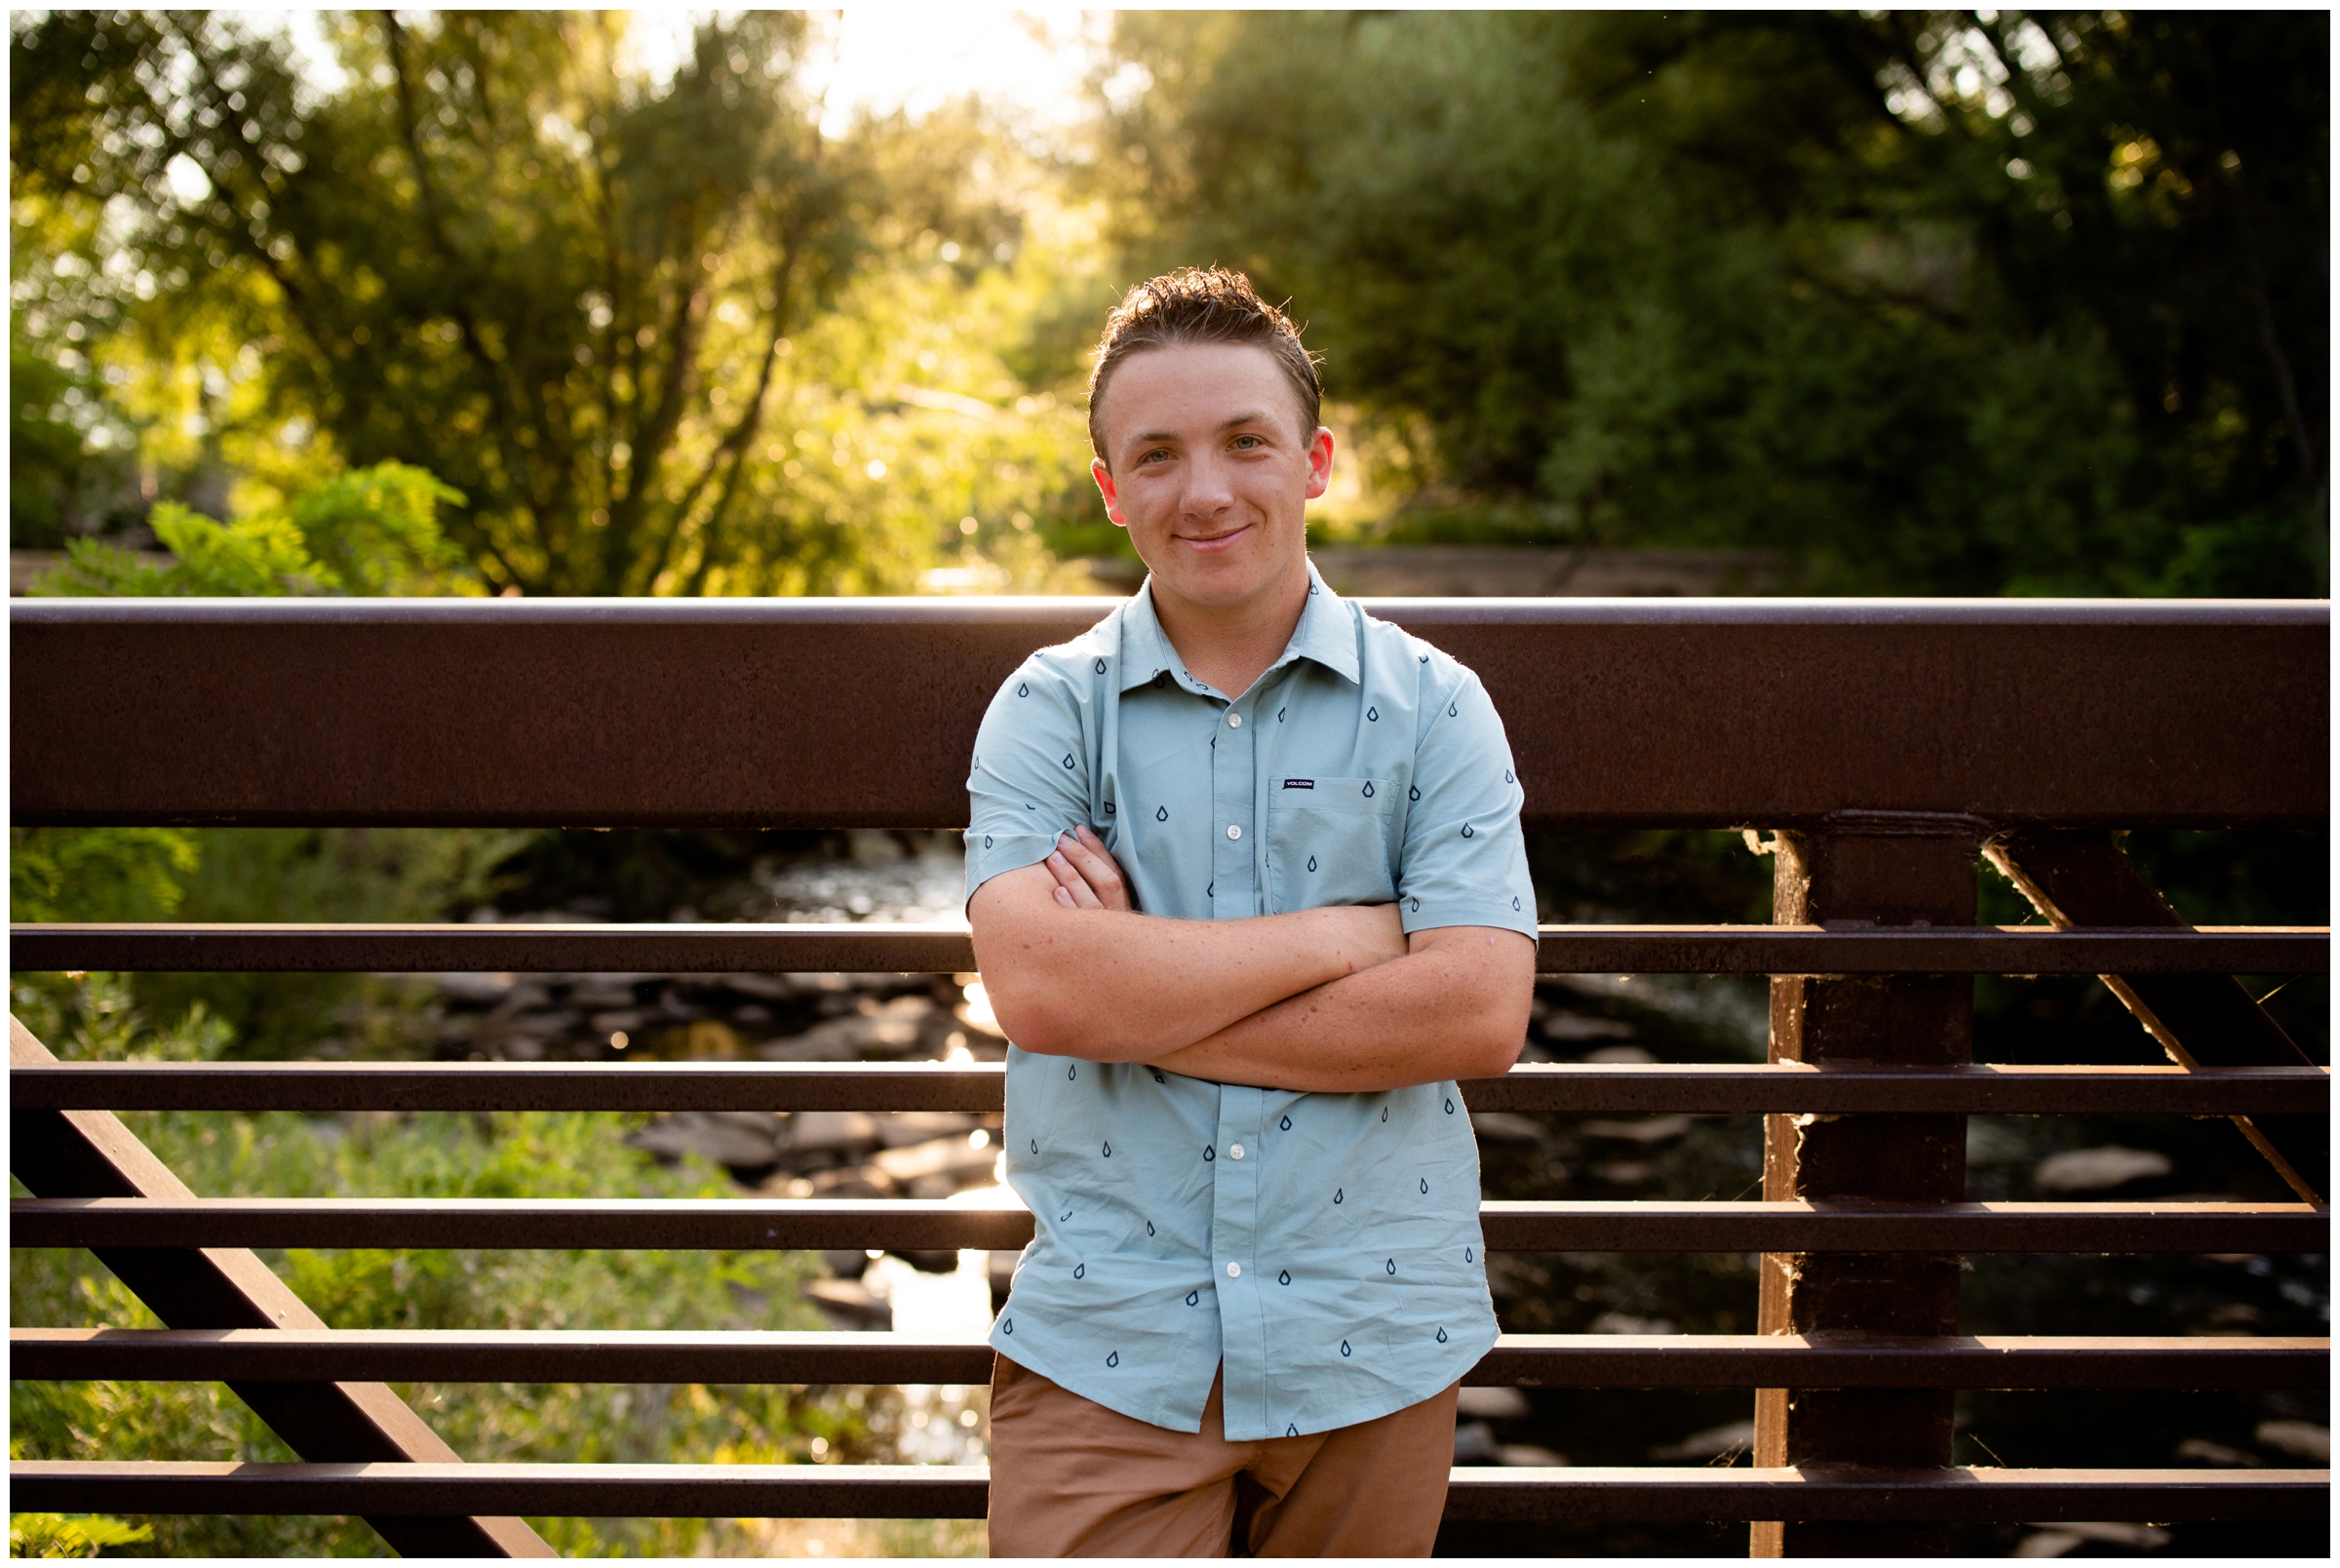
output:
[[[964,821],[997,681],[1102,601],[19,601],[16,824]],[[1458,1467],[1455,1519],[1750,1521],[1757,1554],[1959,1521],[2321,1519],[2326,1472],[1954,1467],[1961,1388],[2296,1388],[2324,1339],[1959,1334],[1968,1252],[2328,1252],[2328,1072],[2230,976],[2328,931],[2188,927],[2129,826],[2326,819],[2328,606],[1385,601],[1479,669],[1528,826],[1753,826],[1776,924],[1547,927],[1544,974],[1769,974],[1767,1065],[1523,1065],[1474,1109],[1762,1114],[1748,1203],[1486,1203],[1491,1247],[1762,1252],[1757,1334],[1505,1336],[1470,1383],[1748,1388],[1750,1470]],[[1991,857],[2047,927],[1977,927]],[[14,927],[14,969],[966,971],[868,927]],[[2099,974],[2136,1065],[1970,1060],[1970,978]],[[2150,1041],[2146,1039],[2150,1037]],[[2162,1060],[2148,1060],[2157,1044]],[[849,1201],[199,1198],[117,1109],[971,1109],[997,1065],[58,1062],[12,1027],[12,1245],[91,1247],[168,1327],[12,1329],[16,1378],[229,1383],[295,1465],[12,1463],[14,1507],[360,1514],[545,1554],[519,1514],[980,1517],[983,1470],[473,1465],[386,1378],[980,1383],[896,1334],[349,1332],[253,1247],[1018,1247]],[[1970,1114],[2230,1116],[2296,1203],[1968,1203]]]

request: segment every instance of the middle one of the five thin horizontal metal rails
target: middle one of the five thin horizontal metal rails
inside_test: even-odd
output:
[[[1004,1189],[1002,1189],[1004,1191]],[[2307,1203],[1481,1203],[1507,1252],[2324,1252]],[[1023,1208],[842,1198],[16,1198],[16,1247],[1013,1250]]]

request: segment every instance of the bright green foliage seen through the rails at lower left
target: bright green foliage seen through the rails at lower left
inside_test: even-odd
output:
[[[61,1055],[206,1055],[215,1027],[152,1032],[119,983],[91,976],[70,1039],[35,1004],[28,1025]],[[660,1168],[620,1144],[622,1116],[358,1116],[131,1114],[131,1130],[201,1194],[271,1196],[625,1196],[711,1198],[728,1180],[704,1165]],[[800,1299],[800,1254],[775,1252],[384,1252],[269,1254],[285,1282],[335,1327],[475,1329],[814,1329]],[[84,1252],[19,1250],[9,1259],[16,1325],[157,1327]],[[868,1458],[866,1399],[791,1388],[395,1385],[449,1444],[475,1460],[526,1463],[807,1463],[826,1451]],[[814,1390],[817,1392],[817,1390]],[[19,1458],[288,1460],[222,1385],[14,1383]],[[716,1521],[536,1521],[562,1552],[660,1554],[730,1545]],[[157,1517],[152,1549],[171,1556],[377,1554],[356,1521]]]

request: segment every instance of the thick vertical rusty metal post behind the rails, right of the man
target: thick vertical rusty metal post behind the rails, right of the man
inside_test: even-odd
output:
[[[1781,833],[1778,924],[1973,924],[1968,817],[1839,812]],[[1973,1058],[1966,976],[1778,976],[1774,1062],[1940,1067]],[[1767,1116],[1767,1201],[1966,1196],[1966,1116]],[[1956,1334],[1956,1254],[1767,1252],[1762,1334]],[[1952,1460],[1952,1392],[1938,1388],[1762,1388],[1757,1465],[1930,1467]],[[1940,1556],[1945,1526],[1757,1521],[1750,1556]]]

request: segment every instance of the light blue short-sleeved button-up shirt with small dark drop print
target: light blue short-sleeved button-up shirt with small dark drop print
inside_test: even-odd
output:
[[[1240,920],[1397,901],[1409,931],[1535,936],[1521,791],[1479,679],[1310,566],[1292,644],[1228,700],[1151,585],[1034,653],[976,737],[969,896],[1090,824],[1140,910]],[[1107,1409],[1226,1437],[1324,1432],[1495,1343],[1479,1147],[1451,1081],[1245,1088],[1009,1048],[1006,1177],[1034,1240],[992,1346]]]

